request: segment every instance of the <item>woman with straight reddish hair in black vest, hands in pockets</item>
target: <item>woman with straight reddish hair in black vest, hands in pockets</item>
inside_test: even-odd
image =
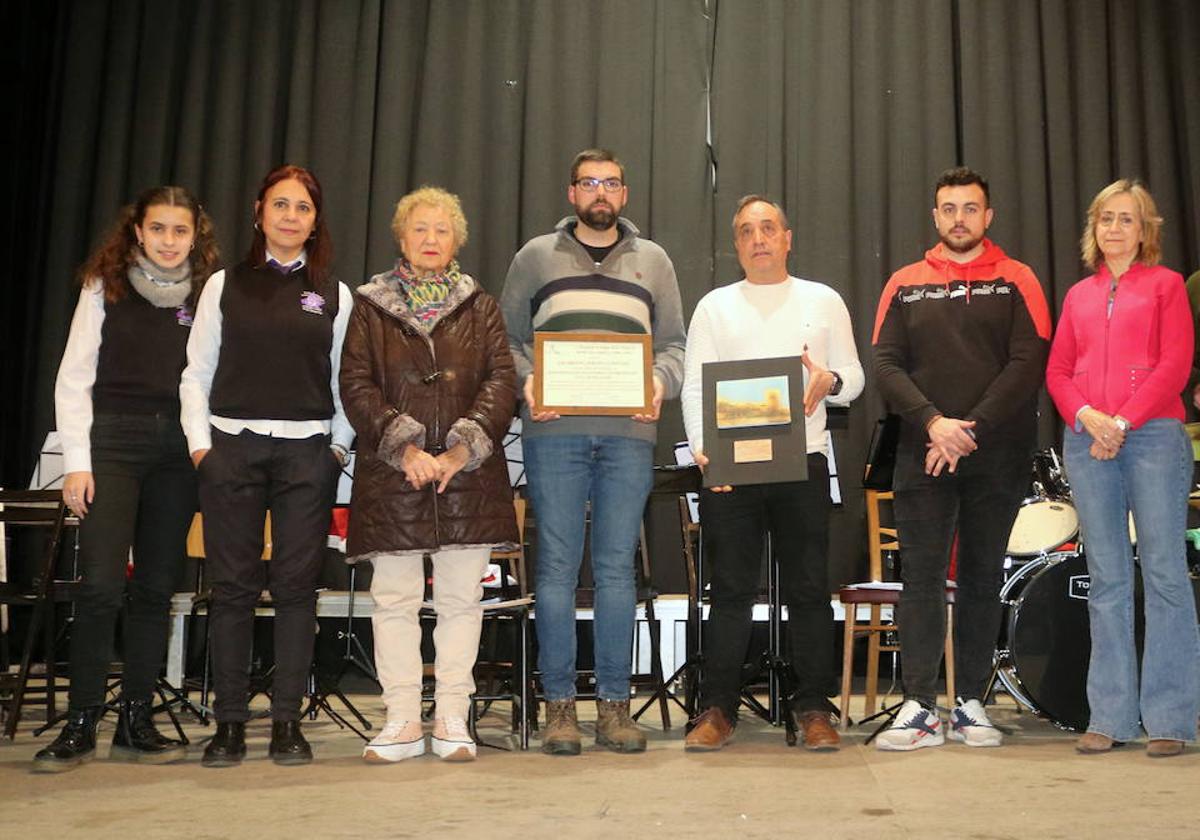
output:
[[[320,184],[282,166],[254,200],[246,259],[212,275],[196,311],[180,384],[184,432],[199,475],[217,732],[205,767],[246,755],[254,604],[275,606],[269,755],[305,764],[300,732],[312,662],[317,578],[337,476],[354,431],[337,391],[349,289],[330,275]],[[263,521],[271,511],[271,560]]]

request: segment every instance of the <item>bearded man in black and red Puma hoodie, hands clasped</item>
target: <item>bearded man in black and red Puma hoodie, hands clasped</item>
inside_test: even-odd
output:
[[[946,575],[958,538],[950,738],[1000,746],[982,701],[1000,630],[1004,551],[1037,442],[1050,342],[1038,278],[985,238],[988,182],[965,167],[934,187],[941,242],[888,280],[875,317],[875,373],[901,418],[895,522],[901,546],[905,702],[881,750],[936,746]]]

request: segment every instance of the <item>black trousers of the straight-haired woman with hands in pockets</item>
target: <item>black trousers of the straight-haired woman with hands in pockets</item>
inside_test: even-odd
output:
[[[317,580],[338,475],[329,436],[300,440],[212,430],[200,462],[212,643],[214,713],[250,718],[254,605],[275,606],[271,718],[299,720],[317,631]],[[263,563],[263,520],[271,511],[271,559]]]

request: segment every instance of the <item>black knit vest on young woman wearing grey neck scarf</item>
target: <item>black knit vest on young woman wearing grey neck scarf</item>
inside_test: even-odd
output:
[[[104,302],[91,404],[97,414],[179,414],[191,307],[152,306],[130,289]]]

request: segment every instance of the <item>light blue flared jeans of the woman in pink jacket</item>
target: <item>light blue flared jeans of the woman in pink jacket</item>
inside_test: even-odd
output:
[[[1192,740],[1200,712],[1200,634],[1183,544],[1192,445],[1171,419],[1130,431],[1112,461],[1093,458],[1091,444],[1090,434],[1067,430],[1067,472],[1092,578],[1087,730],[1129,740],[1140,720],[1151,738]],[[1140,690],[1130,510],[1146,592]]]

